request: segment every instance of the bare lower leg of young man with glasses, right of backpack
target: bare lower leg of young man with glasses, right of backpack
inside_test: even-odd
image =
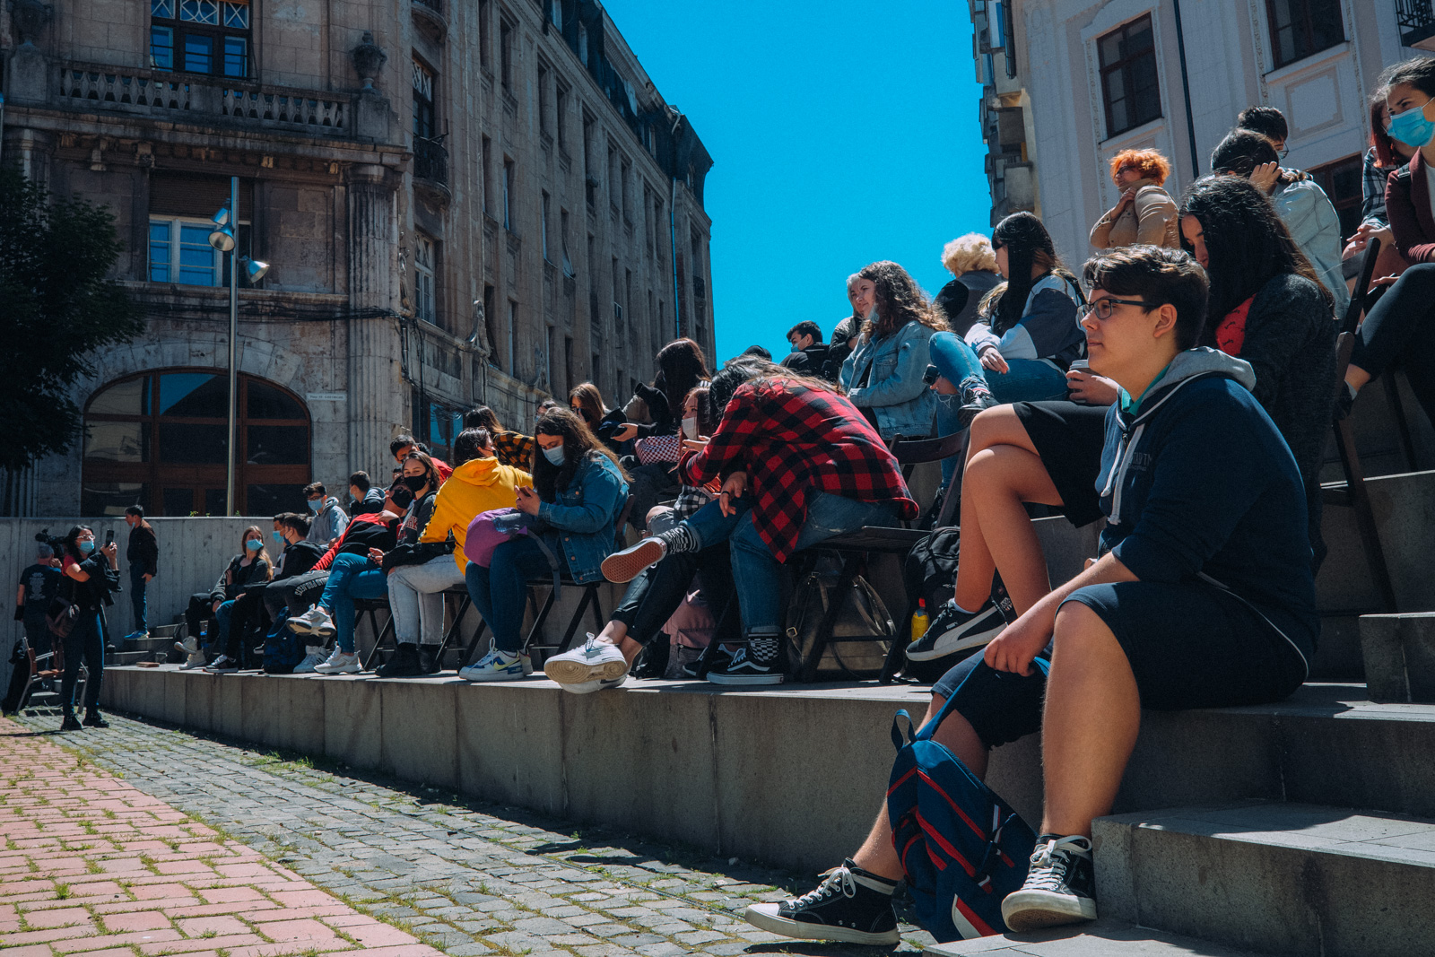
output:
[[[1091,836],[1111,811],[1141,727],[1131,661],[1101,616],[1068,601],[1056,614],[1042,715],[1046,811],[1042,834]]]

